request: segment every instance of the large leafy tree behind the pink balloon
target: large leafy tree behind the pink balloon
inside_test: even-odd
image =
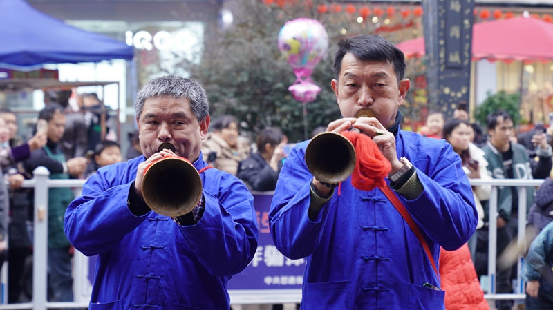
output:
[[[281,57],[277,46],[279,30],[286,21],[297,17],[317,19],[324,24],[329,49],[312,72],[312,80],[322,90],[317,99],[307,104],[308,133],[317,126],[327,126],[338,119],[336,95],[330,87],[335,42],[347,35],[375,32],[375,23],[358,23],[357,15],[319,13],[319,5],[330,6],[328,0],[282,1],[228,0],[234,8],[234,22],[228,29],[209,28],[199,64],[182,64],[191,79],[205,87],[212,118],[234,115],[240,122],[241,135],[252,141],[266,126],[282,129],[290,142],[304,139],[303,106],[296,101],[288,86],[296,77]],[[273,4],[265,4],[273,3]],[[397,31],[383,32],[386,39],[404,39]]]

